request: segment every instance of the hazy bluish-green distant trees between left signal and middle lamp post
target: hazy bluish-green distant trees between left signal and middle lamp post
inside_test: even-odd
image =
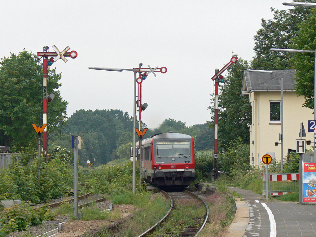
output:
[[[133,131],[133,119],[121,110],[78,110],[67,122],[64,133],[81,136],[84,143],[79,151],[79,156],[84,155],[81,160],[95,158],[101,164],[111,161],[113,151],[123,144],[117,144],[120,139],[126,140],[122,134]]]

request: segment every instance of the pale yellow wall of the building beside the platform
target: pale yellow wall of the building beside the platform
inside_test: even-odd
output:
[[[261,158],[267,153],[275,153],[278,162],[281,161],[281,145],[275,146],[281,133],[280,124],[269,124],[270,100],[280,100],[281,92],[252,92],[249,102],[252,105],[252,122],[250,132],[250,165],[262,165]],[[288,149],[295,149],[295,140],[300,139],[301,123],[304,124],[307,137],[302,139],[313,141],[313,133],[308,132],[308,120],[314,120],[313,110],[302,107],[305,99],[297,96],[293,91],[283,92],[283,161],[286,159]],[[253,144],[252,144],[253,143]],[[311,149],[307,145],[306,149]],[[253,157],[253,158],[252,158]]]

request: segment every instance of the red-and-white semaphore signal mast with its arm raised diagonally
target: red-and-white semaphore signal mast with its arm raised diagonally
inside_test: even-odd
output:
[[[221,70],[216,69],[215,75],[211,78],[215,81],[215,103],[214,103],[214,158],[213,158],[213,170],[214,170],[214,179],[218,177],[218,83],[219,79],[223,79],[221,74],[228,69],[232,64],[237,62],[236,57],[232,57],[228,64],[226,64]]]

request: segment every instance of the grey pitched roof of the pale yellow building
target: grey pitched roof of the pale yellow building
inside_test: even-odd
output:
[[[245,95],[254,91],[281,91],[282,74],[283,91],[294,90],[295,69],[270,71],[272,73],[244,70],[241,94]]]

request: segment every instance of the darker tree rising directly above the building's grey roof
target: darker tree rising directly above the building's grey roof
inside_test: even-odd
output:
[[[294,0],[294,2],[306,1]],[[291,55],[272,52],[270,48],[289,48],[292,38],[297,36],[299,24],[307,21],[312,9],[308,7],[294,7],[289,10],[271,8],[271,11],[273,19],[261,19],[262,28],[254,36],[256,55],[252,61],[252,68],[257,70],[293,69],[293,65],[289,62]]]

